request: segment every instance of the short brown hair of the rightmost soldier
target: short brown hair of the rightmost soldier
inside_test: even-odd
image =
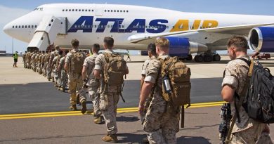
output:
[[[234,46],[235,51],[247,52],[247,39],[240,36],[234,36],[228,40],[228,48],[230,48],[230,46]]]

